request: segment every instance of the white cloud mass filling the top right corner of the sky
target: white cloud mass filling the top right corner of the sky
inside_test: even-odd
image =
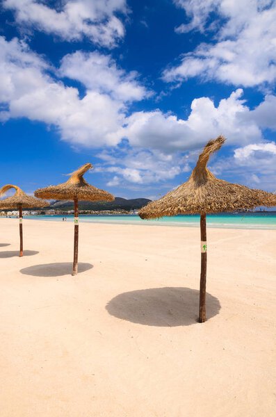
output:
[[[184,8],[189,24],[177,28],[213,31],[212,42],[200,44],[185,54],[181,63],[163,72],[166,82],[181,82],[193,76],[232,85],[252,87],[276,80],[276,6],[266,0],[174,0]],[[211,13],[216,13],[217,21]]]

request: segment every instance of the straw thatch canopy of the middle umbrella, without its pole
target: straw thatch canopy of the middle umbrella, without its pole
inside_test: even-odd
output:
[[[46,188],[38,188],[35,191],[35,197],[41,197],[46,199],[72,199],[77,198],[83,201],[113,201],[114,197],[110,193],[104,190],[100,190],[94,186],[90,186],[83,178],[83,174],[90,170],[92,165],[86,163],[79,170],[76,170],[70,174],[70,179],[65,183],[61,183],[58,186],[49,186]]]

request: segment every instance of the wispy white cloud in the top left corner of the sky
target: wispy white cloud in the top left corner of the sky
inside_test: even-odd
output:
[[[64,0],[49,7],[40,0],[3,0],[13,10],[17,24],[74,41],[87,37],[95,44],[114,47],[124,36],[124,25],[115,13],[127,13],[125,0]]]

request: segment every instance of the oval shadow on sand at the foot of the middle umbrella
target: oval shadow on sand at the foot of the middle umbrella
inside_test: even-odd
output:
[[[22,268],[20,272],[24,275],[33,275],[33,277],[60,277],[62,275],[71,275],[72,268],[72,262],[41,263],[40,265]],[[79,262],[78,273],[88,271],[91,268],[93,268],[91,263]]]

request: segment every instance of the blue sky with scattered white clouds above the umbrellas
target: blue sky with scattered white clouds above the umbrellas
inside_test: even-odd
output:
[[[2,0],[1,183],[86,177],[120,197],[218,177],[276,190],[276,3]]]

